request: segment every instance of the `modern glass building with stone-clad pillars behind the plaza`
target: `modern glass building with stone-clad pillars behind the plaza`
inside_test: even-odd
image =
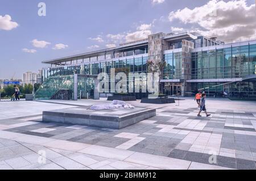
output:
[[[256,40],[224,43],[197,33],[156,33],[148,39],[119,45],[116,48],[78,54],[43,61],[43,86],[38,98],[51,98],[56,92],[84,97],[93,95],[92,77],[81,77],[77,91],[73,91],[72,76],[115,73],[147,73],[147,62],[166,62],[161,87],[166,95],[183,96],[204,90],[209,96],[220,96],[221,91],[230,97],[256,98]],[[51,90],[51,94],[42,95]],[[74,94],[75,93],[75,94]],[[145,94],[137,93],[137,98]]]

